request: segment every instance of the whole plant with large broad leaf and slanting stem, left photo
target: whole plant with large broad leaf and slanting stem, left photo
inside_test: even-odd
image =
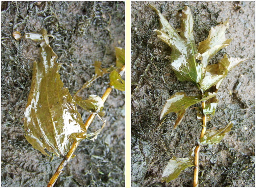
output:
[[[15,35],[17,33],[14,33]],[[47,156],[50,155],[45,149],[59,157],[63,156],[48,184],[53,186],[67,162],[74,157],[73,153],[80,141],[91,136],[95,139],[103,129],[105,121],[100,116],[104,114],[104,102],[111,90],[116,88],[125,91],[125,81],[121,79],[125,71],[125,50],[116,48],[116,67],[101,68],[101,62],[95,62],[95,75],[82,89],[90,87],[93,81],[105,73],[110,73],[110,87],[102,97],[90,95],[88,99],[83,100],[77,96],[78,92],[72,98],[68,88],[63,87],[58,73],[61,63],[56,62],[58,56],[53,52],[48,36],[53,37],[48,35],[45,29],[42,29],[41,33],[30,32],[24,35],[27,39],[40,41],[41,46],[41,61],[34,62],[32,84],[25,109],[24,130],[25,137],[33,148]],[[76,103],[91,113],[85,123],[77,111]],[[95,133],[87,134],[86,130],[96,115],[102,120],[103,126]]]

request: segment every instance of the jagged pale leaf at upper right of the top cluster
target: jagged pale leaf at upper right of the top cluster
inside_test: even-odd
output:
[[[228,46],[232,39],[225,38],[225,31],[228,28],[228,21],[223,24],[212,27],[206,40],[199,43],[197,59],[202,61],[203,75],[205,75],[206,67],[209,60],[221,49]]]

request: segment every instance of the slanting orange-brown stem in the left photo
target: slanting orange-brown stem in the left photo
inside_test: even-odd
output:
[[[124,71],[125,71],[125,65],[121,68],[120,75],[123,74]],[[106,89],[106,91],[104,92],[104,94],[101,97],[103,103],[106,101],[106,99],[107,99],[107,97],[108,97],[108,95],[110,94],[111,91],[112,91],[112,87],[108,87]],[[96,116],[96,114],[91,114],[88,117],[87,121],[84,124],[86,130],[88,129],[89,125],[92,123],[92,121],[93,121],[95,116]],[[72,144],[71,148],[69,149],[68,153],[65,155],[65,157],[63,158],[63,160],[59,164],[57,170],[55,171],[54,175],[50,179],[47,187],[52,187],[55,184],[55,182],[57,181],[59,175],[62,173],[63,168],[66,166],[66,164],[70,161],[71,157],[73,156],[73,153],[77,149],[79,143],[80,142],[76,142],[76,141],[73,142],[73,144]]]

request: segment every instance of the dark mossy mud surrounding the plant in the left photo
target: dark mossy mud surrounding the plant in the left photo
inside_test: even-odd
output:
[[[73,95],[94,74],[94,61],[115,65],[114,47],[125,48],[124,2],[1,2],[1,186],[46,186],[61,158],[50,162],[24,137],[24,109],[39,43],[12,33],[45,28],[56,38],[50,45],[59,56],[61,80]],[[81,96],[101,96],[108,75]],[[95,142],[83,140],[56,186],[125,186],[125,93],[113,90],[105,102],[107,120]],[[89,113],[78,107],[84,122]],[[98,130],[96,118],[87,130]]]

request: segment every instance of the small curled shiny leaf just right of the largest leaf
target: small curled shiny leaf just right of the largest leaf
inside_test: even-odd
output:
[[[86,100],[83,100],[81,97],[75,95],[74,100],[79,106],[90,113],[99,113],[104,107],[104,102],[98,95],[90,95]]]

